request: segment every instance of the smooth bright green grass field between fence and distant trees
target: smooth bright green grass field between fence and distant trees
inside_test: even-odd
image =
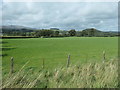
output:
[[[14,57],[15,71],[27,61],[26,69],[39,70],[42,60],[45,69],[52,70],[66,66],[67,55],[71,55],[71,64],[101,62],[103,51],[106,60],[117,58],[118,37],[68,37],[68,38],[26,38],[3,39],[3,74],[10,70],[10,58]]]

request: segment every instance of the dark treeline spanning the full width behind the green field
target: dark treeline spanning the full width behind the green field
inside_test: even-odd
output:
[[[102,32],[95,28],[89,28],[82,31],[72,30],[59,30],[59,29],[41,29],[41,30],[29,30],[29,29],[2,29],[3,36],[31,36],[31,37],[114,37],[119,36],[118,32]]]

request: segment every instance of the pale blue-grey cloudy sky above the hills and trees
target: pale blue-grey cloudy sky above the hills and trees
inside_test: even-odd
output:
[[[118,30],[117,2],[4,2],[2,25],[31,28]]]

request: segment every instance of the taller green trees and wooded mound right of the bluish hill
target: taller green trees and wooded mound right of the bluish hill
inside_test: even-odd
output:
[[[118,36],[116,32],[102,32],[94,28],[76,31],[75,29],[69,31],[61,30],[38,30],[35,32],[35,37],[114,37]]]

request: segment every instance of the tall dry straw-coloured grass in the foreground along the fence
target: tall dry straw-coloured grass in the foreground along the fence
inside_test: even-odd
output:
[[[59,67],[54,71],[25,71],[3,80],[3,88],[117,88],[118,61],[87,63],[81,66]]]

